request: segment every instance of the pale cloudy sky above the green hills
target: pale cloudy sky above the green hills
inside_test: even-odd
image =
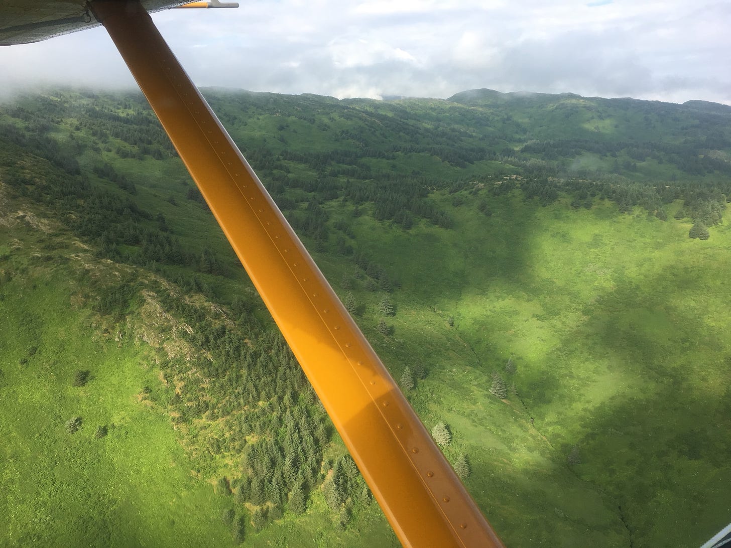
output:
[[[240,0],[154,20],[197,85],[336,97],[572,92],[731,104],[731,2]],[[0,90],[132,86],[104,29],[0,47]]]

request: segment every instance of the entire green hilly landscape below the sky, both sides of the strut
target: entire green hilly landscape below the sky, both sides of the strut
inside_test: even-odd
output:
[[[731,521],[729,108],[206,95],[508,546]],[[0,128],[6,544],[395,544],[141,96]]]

